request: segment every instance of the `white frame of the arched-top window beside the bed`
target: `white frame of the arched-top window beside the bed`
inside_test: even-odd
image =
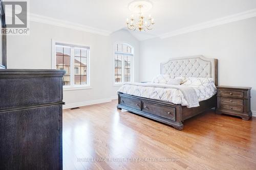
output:
[[[131,47],[131,53],[116,52],[115,51],[116,44],[125,44]],[[121,55],[121,58],[122,58],[122,82],[115,82],[115,55],[116,54]],[[124,61],[123,61],[124,55],[131,56],[131,69],[130,69],[131,73],[130,74],[131,74],[131,82],[134,82],[134,47],[130,43],[127,43],[124,41],[117,41],[113,45],[113,86],[121,86],[125,83],[124,82]]]

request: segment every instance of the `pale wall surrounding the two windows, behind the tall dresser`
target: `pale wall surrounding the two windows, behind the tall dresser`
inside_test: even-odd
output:
[[[7,37],[7,67],[51,69],[51,39],[55,41],[90,46],[90,83],[91,89],[63,92],[66,107],[110,101],[116,96],[117,87],[113,86],[113,41],[125,40],[135,47],[139,56],[139,42],[127,31],[121,30],[111,36],[102,36],[44,23],[30,22],[30,35]],[[131,42],[130,42],[131,41]],[[137,60],[137,59],[136,59]],[[138,60],[139,61],[139,60]],[[136,75],[139,70],[136,63]],[[136,76],[136,80],[139,77]]]

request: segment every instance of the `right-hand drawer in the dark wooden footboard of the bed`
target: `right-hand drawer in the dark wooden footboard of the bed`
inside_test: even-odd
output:
[[[176,109],[174,107],[159,105],[151,102],[142,101],[142,111],[154,113],[158,116],[168,118],[170,120],[176,120]]]

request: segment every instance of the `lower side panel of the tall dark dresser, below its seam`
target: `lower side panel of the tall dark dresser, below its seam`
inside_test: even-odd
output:
[[[60,169],[61,109],[0,113],[0,169]]]

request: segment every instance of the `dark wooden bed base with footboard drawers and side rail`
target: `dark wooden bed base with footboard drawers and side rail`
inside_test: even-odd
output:
[[[187,108],[186,106],[160,100],[140,98],[138,96],[118,93],[118,109],[127,111],[157,120],[164,124],[173,126],[175,129],[183,129],[183,120],[193,117],[203,111],[216,107],[216,95],[206,101],[199,102],[199,107]]]

